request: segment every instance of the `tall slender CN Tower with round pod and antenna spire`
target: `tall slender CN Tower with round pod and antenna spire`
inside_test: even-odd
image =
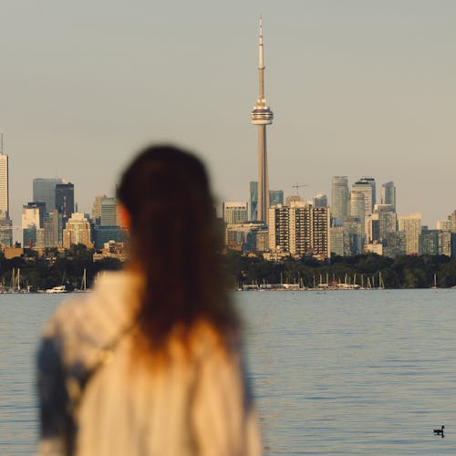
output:
[[[257,220],[267,223],[269,209],[269,178],[267,172],[266,125],[273,123],[273,111],[264,98],[264,59],[263,59],[263,18],[260,16],[260,40],[258,43],[258,99],[250,114],[252,123],[258,126],[258,205]]]

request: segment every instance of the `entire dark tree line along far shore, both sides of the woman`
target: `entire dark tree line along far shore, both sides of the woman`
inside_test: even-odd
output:
[[[47,249],[44,254],[6,259],[0,254],[0,285],[12,287],[20,271],[22,289],[39,291],[65,285],[67,291],[81,288],[84,275],[87,287],[103,271],[123,267],[117,258],[94,261],[94,251],[85,245],[74,245],[64,252]],[[381,278],[385,288],[451,288],[456,286],[456,258],[448,256],[398,256],[378,254],[333,256],[320,262],[313,258],[288,258],[280,262],[266,261],[259,256],[237,252],[222,255],[228,285],[299,284],[315,287],[321,283],[378,286]],[[208,272],[210,274],[210,272]]]

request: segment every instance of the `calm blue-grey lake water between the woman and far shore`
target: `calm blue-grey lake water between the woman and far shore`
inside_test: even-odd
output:
[[[266,454],[456,454],[456,290],[234,296]],[[61,299],[0,295],[0,455],[34,452],[33,357]]]

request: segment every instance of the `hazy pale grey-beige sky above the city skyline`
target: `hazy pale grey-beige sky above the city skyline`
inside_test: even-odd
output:
[[[0,130],[11,212],[32,179],[112,194],[150,142],[198,151],[220,200],[257,177],[258,16],[264,16],[272,189],[330,195],[333,175],[395,181],[399,213],[456,209],[454,0],[3,0]]]

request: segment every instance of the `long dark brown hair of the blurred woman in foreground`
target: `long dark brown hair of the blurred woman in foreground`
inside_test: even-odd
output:
[[[200,322],[228,340],[238,319],[223,283],[202,161],[173,146],[152,146],[124,172],[118,198],[130,213],[132,261],[146,278],[139,324],[150,352],[161,350],[176,326]]]

